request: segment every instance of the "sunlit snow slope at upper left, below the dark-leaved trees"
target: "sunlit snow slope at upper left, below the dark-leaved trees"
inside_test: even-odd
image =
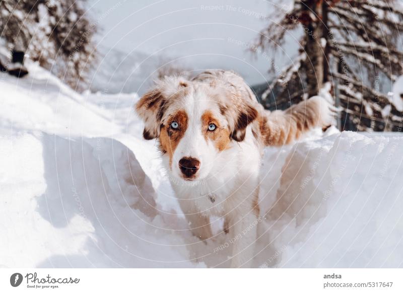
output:
[[[3,133],[41,130],[63,136],[112,135],[120,132],[97,108],[37,64],[28,65],[30,74],[16,79],[0,76]]]

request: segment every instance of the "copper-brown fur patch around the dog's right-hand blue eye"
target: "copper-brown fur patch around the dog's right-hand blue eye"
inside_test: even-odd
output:
[[[214,145],[219,152],[227,150],[229,148],[230,143],[230,132],[227,128],[222,127],[219,121],[214,117],[213,113],[210,111],[206,111],[203,115],[201,115],[201,125],[203,125],[203,133],[205,135],[205,139],[214,141]],[[216,129],[214,131],[208,130],[209,124],[216,124]]]

